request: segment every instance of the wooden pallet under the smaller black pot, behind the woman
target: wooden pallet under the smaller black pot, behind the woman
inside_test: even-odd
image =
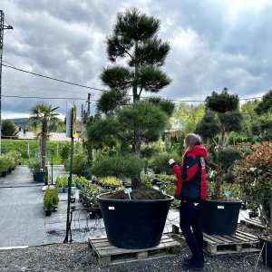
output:
[[[173,233],[185,239],[180,228],[172,226]],[[237,230],[235,235],[203,234],[204,251],[210,256],[232,253],[258,252],[258,238],[252,234]]]

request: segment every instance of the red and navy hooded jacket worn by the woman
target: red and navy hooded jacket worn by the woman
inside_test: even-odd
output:
[[[172,163],[176,175],[175,198],[180,200],[204,200],[207,197],[206,161],[208,151],[203,145],[195,145],[185,154],[181,165]]]

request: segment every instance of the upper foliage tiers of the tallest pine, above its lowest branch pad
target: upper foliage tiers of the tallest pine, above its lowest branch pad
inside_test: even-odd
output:
[[[160,69],[170,44],[157,36],[159,29],[159,19],[137,9],[117,15],[106,46],[114,65],[101,74],[102,83],[110,90],[97,103],[104,116],[92,121],[89,141],[125,141],[140,158],[141,143],[159,139],[174,105],[160,98],[141,100],[143,92],[159,92],[170,84],[169,76]],[[118,59],[121,64],[116,63]],[[132,187],[138,187],[138,181],[132,180]]]

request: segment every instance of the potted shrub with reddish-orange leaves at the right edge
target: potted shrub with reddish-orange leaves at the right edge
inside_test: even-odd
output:
[[[264,263],[272,267],[272,142],[252,145],[251,152],[235,163],[234,171],[248,208],[260,210],[265,232],[258,238],[265,244]]]

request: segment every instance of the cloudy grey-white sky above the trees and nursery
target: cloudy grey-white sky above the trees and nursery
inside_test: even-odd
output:
[[[204,101],[227,87],[246,99],[271,88],[271,0],[1,0],[5,24],[14,28],[5,31],[3,64],[105,89],[105,37],[116,14],[131,7],[160,18],[159,36],[170,43],[163,70],[172,83],[160,96]],[[39,101],[65,114],[65,102],[73,102],[67,98],[78,98],[86,109],[88,92],[93,100],[102,93],[3,66],[2,118],[24,117]]]

